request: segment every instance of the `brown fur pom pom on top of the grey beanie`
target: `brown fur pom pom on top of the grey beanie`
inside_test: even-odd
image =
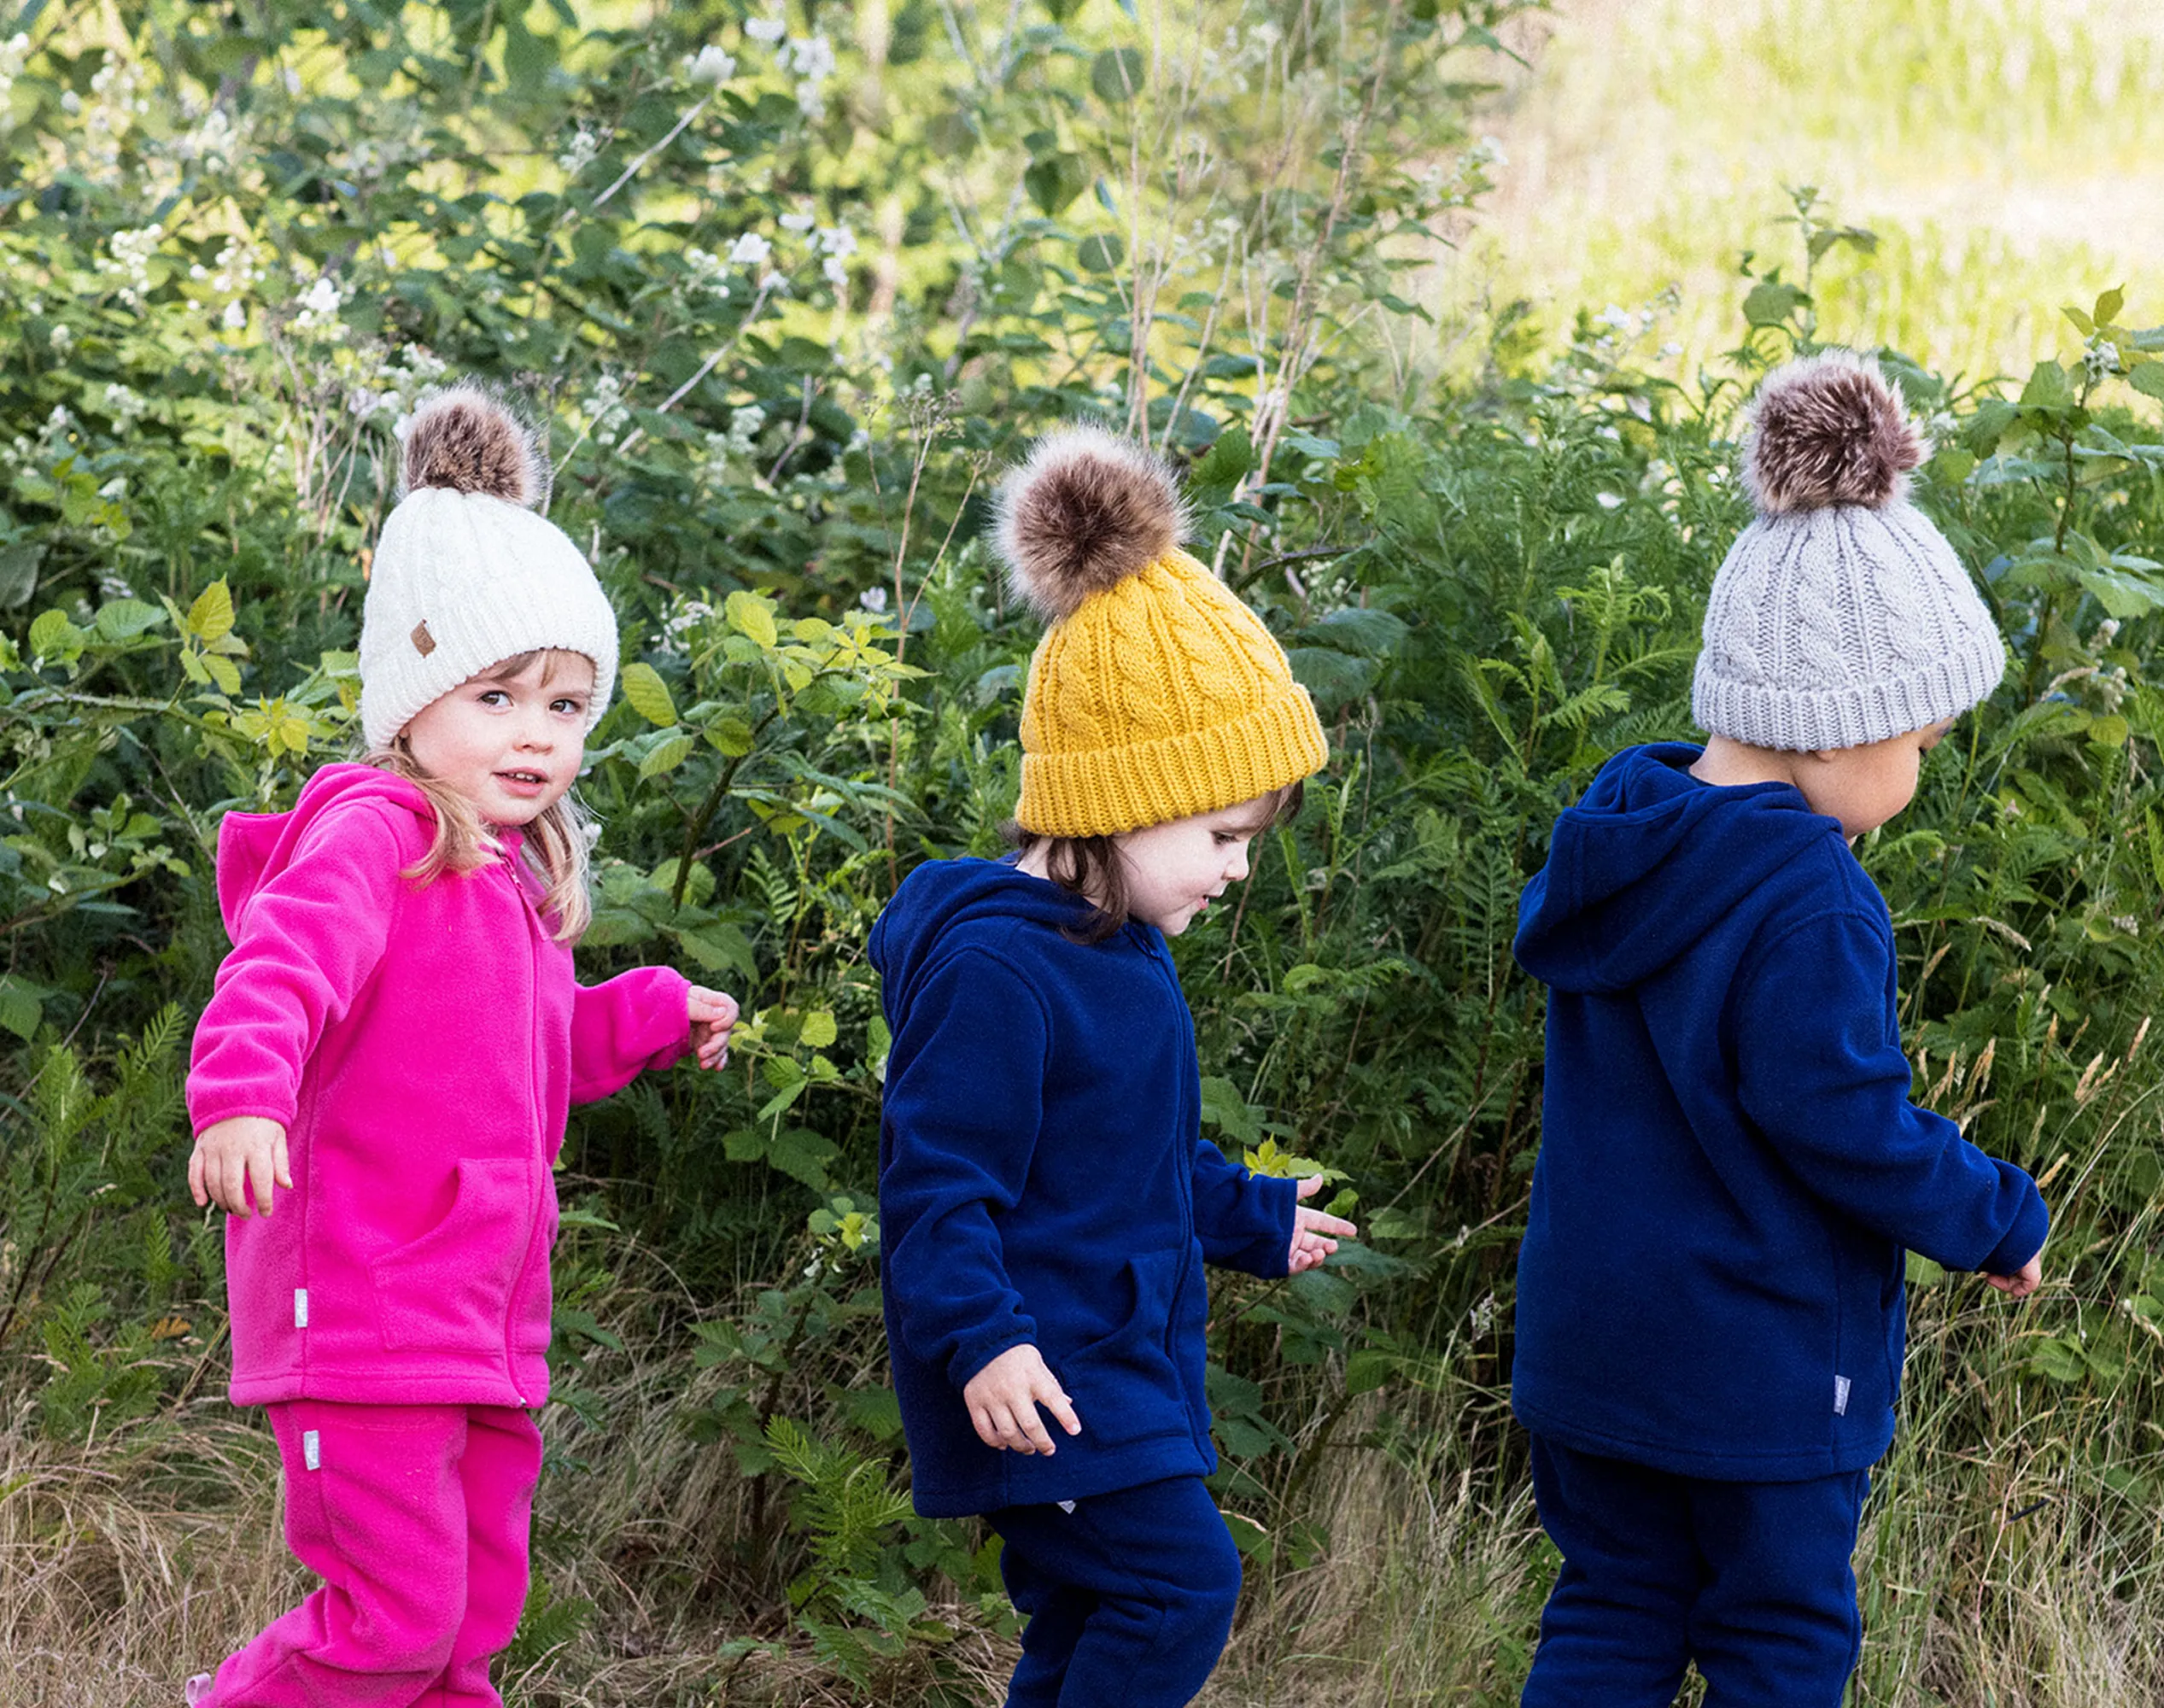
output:
[[[1885,504],[1930,455],[1878,364],[1822,351],[1774,368],[1751,405],[1744,485],[1761,515]]]

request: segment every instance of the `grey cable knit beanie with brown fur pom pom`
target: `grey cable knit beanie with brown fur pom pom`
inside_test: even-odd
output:
[[[1820,751],[1958,717],[2006,671],[2006,643],[1954,548],[1909,502],[1926,446],[1878,364],[1824,351],[1751,405],[1757,517],[1705,606],[1690,684],[1701,730]]]

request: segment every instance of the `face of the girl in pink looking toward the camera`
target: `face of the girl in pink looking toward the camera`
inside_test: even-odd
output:
[[[530,825],[578,779],[593,660],[541,652],[515,673],[472,675],[405,727],[413,762],[489,825]]]

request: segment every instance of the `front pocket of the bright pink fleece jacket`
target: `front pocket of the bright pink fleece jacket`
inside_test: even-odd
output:
[[[461,1156],[450,1212],[370,1264],[390,1351],[504,1344],[532,1234],[535,1167],[524,1156]]]

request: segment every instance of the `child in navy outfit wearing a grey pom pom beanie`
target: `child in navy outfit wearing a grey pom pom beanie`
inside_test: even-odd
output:
[[[2004,669],[1904,496],[1878,368],[1772,375],[1757,520],[1681,743],[1612,758],[1526,888],[1549,985],[1513,1409],[1562,1569],[1528,1708],[1839,1708],[1850,1569],[1894,1440],[1904,1249],[2026,1297],[2034,1182],[1909,1102],[1887,905],[1850,853]]]

